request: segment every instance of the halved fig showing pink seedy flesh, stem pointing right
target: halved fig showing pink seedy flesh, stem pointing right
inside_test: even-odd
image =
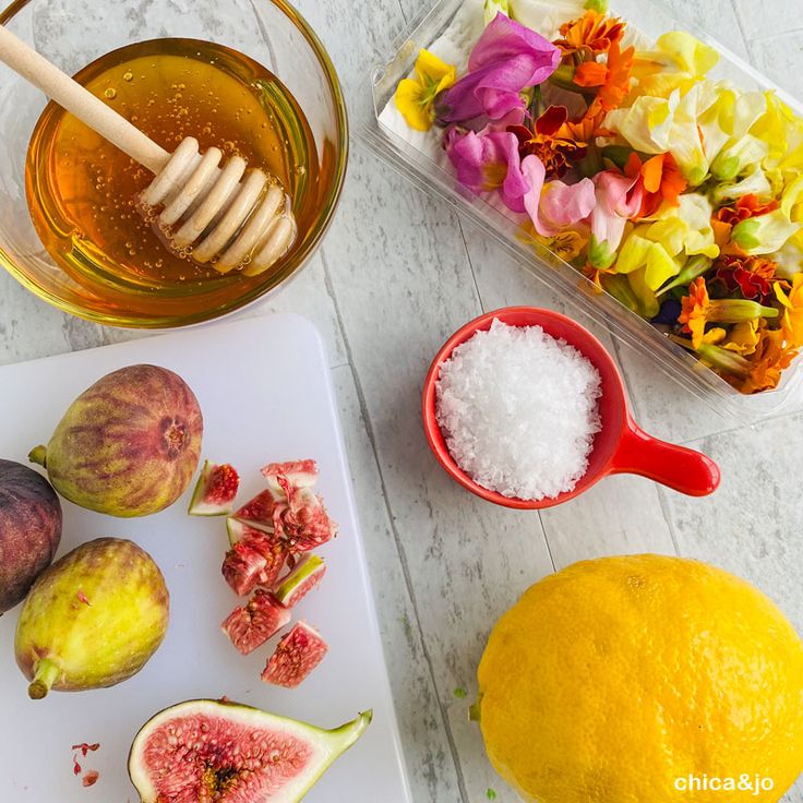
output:
[[[297,803],[371,718],[325,731],[237,703],[189,700],[143,726],[129,775],[142,803]]]

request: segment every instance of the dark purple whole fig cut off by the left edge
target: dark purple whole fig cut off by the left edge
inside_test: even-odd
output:
[[[61,504],[40,475],[0,460],[0,614],[25,597],[56,555]]]

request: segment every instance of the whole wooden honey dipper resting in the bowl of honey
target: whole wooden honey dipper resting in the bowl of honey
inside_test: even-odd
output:
[[[141,200],[146,208],[163,207],[158,221],[177,251],[220,273],[241,267],[247,276],[287,253],[296,218],[275,176],[247,170],[240,156],[221,168],[223,152],[211,147],[202,155],[192,136],[168,153],[3,25],[0,61],[154,173]]]

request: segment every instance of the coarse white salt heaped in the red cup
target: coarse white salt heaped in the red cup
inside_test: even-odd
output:
[[[504,496],[572,491],[601,429],[597,369],[540,326],[494,319],[441,367],[438,424],[457,465]]]

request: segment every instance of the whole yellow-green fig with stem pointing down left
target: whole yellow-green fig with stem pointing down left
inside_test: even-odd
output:
[[[39,575],[16,625],[28,695],[113,686],[161,644],[170,596],[159,567],[132,541],[98,538]]]

